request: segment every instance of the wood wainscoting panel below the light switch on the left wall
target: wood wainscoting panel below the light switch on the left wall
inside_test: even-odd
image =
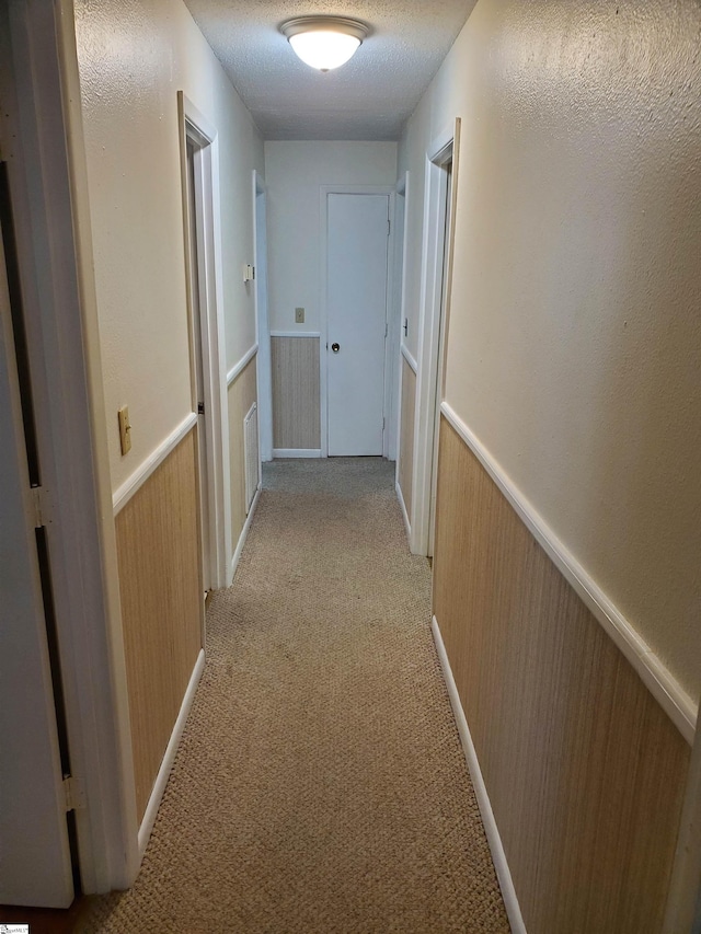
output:
[[[202,648],[196,431],[115,518],[139,821]]]

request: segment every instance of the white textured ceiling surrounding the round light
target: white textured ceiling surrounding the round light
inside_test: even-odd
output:
[[[399,139],[475,0],[185,0],[265,139]],[[292,16],[353,16],[370,35],[325,74],[279,32]]]

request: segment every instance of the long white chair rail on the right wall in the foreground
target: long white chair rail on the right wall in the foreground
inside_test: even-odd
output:
[[[677,679],[639,635],[618,607],[609,600],[594,578],[567,550],[565,544],[560,541],[542,516],[518,489],[460,416],[447,402],[441,404],[440,411],[499,487],[555,567],[572,585],[577,596],[637,671],[643,683],[667,713],[679,733],[687,742],[693,743],[698,708],[691,697],[683,691]]]

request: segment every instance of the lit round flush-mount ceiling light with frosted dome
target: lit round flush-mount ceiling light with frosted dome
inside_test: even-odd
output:
[[[298,16],[283,23],[280,32],[306,65],[330,71],[353,57],[368,27],[343,16]]]

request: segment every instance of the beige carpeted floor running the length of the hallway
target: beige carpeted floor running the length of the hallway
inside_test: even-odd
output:
[[[508,932],[379,459],[277,461],[134,888],[84,932]]]

